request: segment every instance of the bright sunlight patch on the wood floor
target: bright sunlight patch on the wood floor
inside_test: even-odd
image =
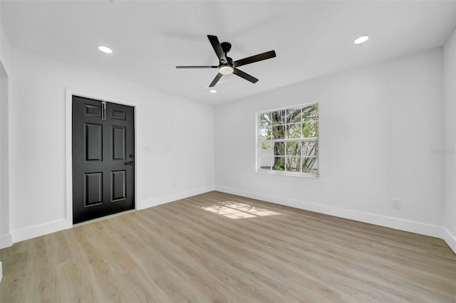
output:
[[[259,208],[234,201],[217,202],[212,206],[202,207],[202,209],[204,209],[204,211],[211,211],[212,213],[217,213],[232,219],[281,215],[281,213],[268,211],[265,208]]]

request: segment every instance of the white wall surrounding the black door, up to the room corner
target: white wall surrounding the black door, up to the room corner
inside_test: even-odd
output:
[[[66,226],[66,87],[140,105],[142,207],[213,189],[212,106],[11,48],[14,242]]]

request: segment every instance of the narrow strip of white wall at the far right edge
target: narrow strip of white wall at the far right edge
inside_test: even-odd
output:
[[[443,48],[445,92],[445,228],[456,250],[456,31]]]

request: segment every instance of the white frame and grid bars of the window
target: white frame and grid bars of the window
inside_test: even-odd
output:
[[[287,127],[289,126],[289,123],[288,121],[285,121],[284,124],[280,124],[280,125],[284,125],[284,138],[283,139],[266,139],[266,140],[262,140],[261,139],[261,136],[260,136],[260,116],[265,114],[265,113],[269,113],[269,112],[279,112],[279,111],[283,111],[283,110],[294,110],[296,108],[303,108],[303,107],[310,107],[312,105],[318,105],[317,107],[317,119],[316,122],[317,125],[316,127],[318,127],[318,137],[309,137],[309,138],[306,138],[304,137],[302,134],[301,134],[301,137],[299,138],[287,138]],[[263,173],[263,174],[279,174],[279,175],[286,175],[286,176],[304,176],[304,177],[309,177],[309,178],[318,178],[320,176],[320,169],[319,169],[319,165],[320,165],[320,144],[319,144],[319,137],[320,137],[320,134],[319,134],[319,124],[320,124],[320,109],[319,109],[319,102],[310,102],[310,103],[305,103],[305,104],[300,104],[300,105],[294,105],[294,106],[287,106],[287,107],[280,107],[280,108],[276,108],[274,110],[264,110],[264,111],[261,111],[261,112],[257,112],[255,115],[256,115],[256,170],[257,170],[257,173]],[[303,120],[301,119],[301,122],[298,122],[296,124],[303,124]],[[316,167],[316,173],[309,173],[309,172],[302,172],[302,171],[287,171],[287,168],[286,168],[286,160],[288,159],[288,155],[286,154],[286,148],[287,148],[287,143],[286,142],[316,142],[317,146],[316,146],[316,155],[314,156],[299,156],[300,159],[304,159],[304,158],[316,158],[316,165],[315,166],[312,166],[312,167]],[[272,165],[271,165],[271,169],[263,169],[261,168],[261,145],[262,144],[274,144],[274,142],[285,142],[284,144],[284,162],[285,162],[285,165],[284,165],[284,170],[276,170],[276,169],[273,169],[272,168]],[[274,157],[273,157],[274,158]],[[302,169],[302,164],[299,164],[301,166],[300,170]]]

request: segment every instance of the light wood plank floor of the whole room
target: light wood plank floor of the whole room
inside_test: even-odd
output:
[[[456,302],[443,240],[219,192],[16,243],[1,260],[5,303]]]

